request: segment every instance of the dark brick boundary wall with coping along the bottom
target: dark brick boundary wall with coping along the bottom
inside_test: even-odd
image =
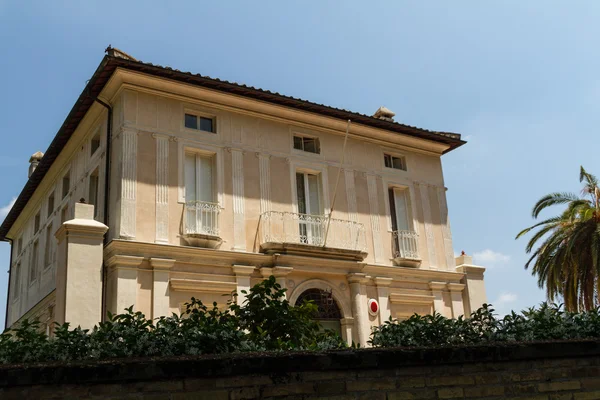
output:
[[[8,399],[600,399],[600,342],[0,367]]]

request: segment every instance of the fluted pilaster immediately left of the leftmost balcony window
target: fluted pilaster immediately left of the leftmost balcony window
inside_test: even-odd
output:
[[[169,136],[156,139],[156,243],[169,243]]]

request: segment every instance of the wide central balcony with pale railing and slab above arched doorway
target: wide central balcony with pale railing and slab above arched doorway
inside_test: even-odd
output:
[[[267,254],[353,261],[362,261],[367,256],[365,227],[354,221],[329,219],[327,215],[269,211],[260,216],[258,229],[260,249]]]

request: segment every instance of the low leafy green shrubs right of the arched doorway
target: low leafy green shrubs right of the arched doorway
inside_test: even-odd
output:
[[[470,318],[450,319],[438,313],[413,315],[404,320],[386,321],[374,328],[374,347],[453,346],[486,342],[536,341],[600,338],[600,310],[575,313],[562,306],[542,303],[502,319],[496,318],[490,304],[473,312]]]

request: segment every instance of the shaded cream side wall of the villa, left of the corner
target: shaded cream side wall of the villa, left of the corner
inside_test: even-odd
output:
[[[100,148],[90,155],[90,141],[100,133]],[[82,120],[74,132],[71,140],[56,159],[46,177],[33,194],[31,200],[13,225],[9,232],[13,240],[13,263],[11,268],[20,264],[20,282],[15,281],[16,274],[11,273],[11,288],[8,295],[8,326],[18,320],[28,310],[38,304],[56,287],[56,254],[57,243],[54,233],[61,224],[61,212],[67,207],[67,220],[73,216],[75,202],[81,198],[88,198],[89,174],[96,168],[99,171],[98,220],[103,218],[103,193],[104,193],[104,149],[106,141],[106,112],[101,108],[93,108]],[[70,172],[70,190],[62,197],[62,178]],[[23,168],[25,173],[25,167]],[[54,193],[54,209],[48,213],[48,198]],[[40,213],[40,228],[34,231],[35,215]],[[46,230],[52,226],[50,254],[52,261],[46,265]],[[23,240],[23,249],[17,254],[17,243]],[[33,256],[33,244],[39,241],[37,274],[32,279],[30,268]],[[13,270],[14,271],[14,270]],[[18,293],[18,294],[17,294]]]

